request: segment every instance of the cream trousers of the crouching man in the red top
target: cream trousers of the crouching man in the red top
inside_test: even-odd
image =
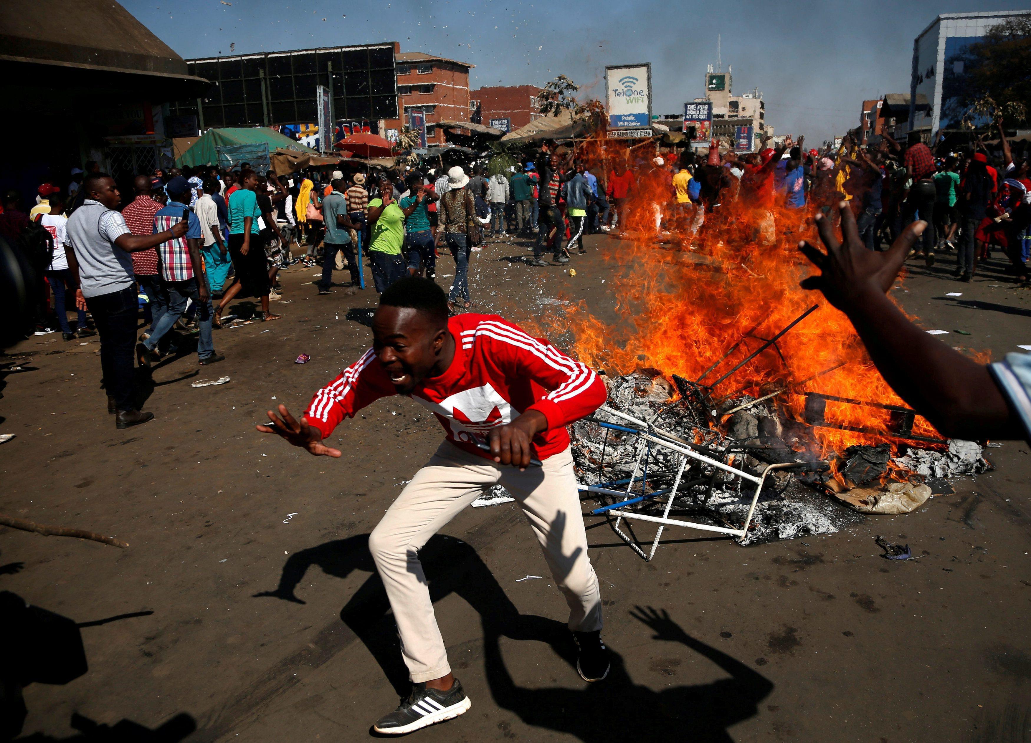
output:
[[[601,629],[598,577],[587,555],[587,532],[569,449],[544,460],[543,467],[520,472],[445,441],[369,535],[369,550],[397,620],[404,663],[417,683],[451,672],[419,550],[495,484],[511,493],[530,521],[569,605],[569,629]]]

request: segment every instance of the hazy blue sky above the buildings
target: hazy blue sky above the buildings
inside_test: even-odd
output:
[[[232,4],[229,4],[232,3]],[[185,58],[398,41],[476,65],[470,87],[543,85],[560,72],[602,97],[605,65],[652,63],[655,113],[703,93],[717,62],[733,90],[758,88],[777,133],[817,144],[859,123],[861,101],[907,93],[912,41],[938,13],[1024,2],[664,2],[565,0],[296,2],[126,0]]]

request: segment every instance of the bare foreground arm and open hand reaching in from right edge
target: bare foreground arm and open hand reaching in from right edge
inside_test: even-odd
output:
[[[843,241],[834,235],[830,221],[818,214],[817,229],[827,254],[799,243],[822,271],[803,280],[802,288],[820,290],[849,316],[885,380],[943,435],[1024,438],[988,368],[918,328],[887,296],[927,223],[907,227],[887,252],[871,252],[859,238],[852,209],[844,202],[839,208]]]

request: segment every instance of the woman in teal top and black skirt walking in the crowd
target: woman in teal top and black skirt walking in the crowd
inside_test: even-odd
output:
[[[229,197],[229,255],[236,269],[236,280],[214,310],[215,328],[222,327],[223,310],[241,293],[243,297],[261,297],[262,319],[279,319],[279,315],[268,309],[268,261],[258,224],[261,208],[255,195],[257,187],[258,174],[244,170],[240,173],[240,188]]]

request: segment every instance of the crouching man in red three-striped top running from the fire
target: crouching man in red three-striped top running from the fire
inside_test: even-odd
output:
[[[271,425],[258,427],[312,454],[340,457],[323,443],[337,424],[377,398],[406,395],[432,410],[446,432],[369,536],[413,682],[411,696],[374,725],[388,735],[470,707],[447,664],[418,553],[495,484],[523,508],[565,595],[579,675],[600,681],[609,668],[565,429],[605,402],[605,384],[586,365],[497,315],[447,314],[447,299],[434,281],[395,282],[380,295],[372,348],[315,393],[300,421],[280,405],[279,415],[268,412]]]

